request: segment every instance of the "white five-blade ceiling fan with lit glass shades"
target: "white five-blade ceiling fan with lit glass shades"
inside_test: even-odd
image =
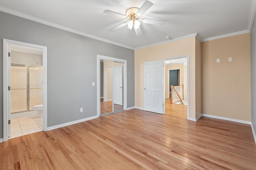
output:
[[[153,5],[152,2],[145,1],[144,4],[140,8],[132,7],[126,10],[126,15],[110,11],[110,10],[105,10],[104,13],[106,14],[111,14],[115,15],[124,19],[128,19],[130,21],[122,23],[109,31],[116,31],[117,29],[120,29],[126,25],[129,29],[134,29],[135,33],[137,36],[142,35],[140,31],[140,23],[149,23],[149,24],[155,24],[155,25],[164,25],[166,21],[161,21],[161,20],[150,20],[150,19],[140,19],[142,14],[144,14],[151,6]]]

